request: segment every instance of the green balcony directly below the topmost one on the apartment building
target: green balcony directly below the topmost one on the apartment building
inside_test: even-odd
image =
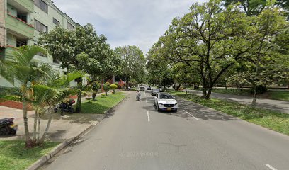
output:
[[[8,29],[8,31],[11,31],[19,37],[33,39],[33,26],[29,25],[24,21],[21,21],[21,19],[16,18],[15,16],[12,16],[10,13],[7,13],[6,28]]]

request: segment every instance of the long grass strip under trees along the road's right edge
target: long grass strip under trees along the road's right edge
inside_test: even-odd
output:
[[[205,100],[193,94],[186,95],[181,91],[169,92],[175,96],[185,98],[189,101],[199,103],[209,108],[214,108],[215,110],[222,111],[228,115],[233,115],[248,122],[261,125],[265,128],[275,130],[276,132],[280,132],[285,135],[289,135],[289,114],[279,113],[277,111],[271,111],[262,108],[252,108],[249,105],[220,100],[217,98]]]

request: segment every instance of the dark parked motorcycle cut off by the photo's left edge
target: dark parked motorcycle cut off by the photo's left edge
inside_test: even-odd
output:
[[[0,135],[16,135],[18,125],[13,120],[14,118],[0,119]]]

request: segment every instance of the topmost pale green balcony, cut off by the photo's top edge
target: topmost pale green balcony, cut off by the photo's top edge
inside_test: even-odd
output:
[[[34,13],[34,3],[32,0],[7,0],[7,3],[22,13]]]

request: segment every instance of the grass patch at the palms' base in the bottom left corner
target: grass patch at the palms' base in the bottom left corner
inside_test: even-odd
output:
[[[25,141],[0,140],[0,169],[26,169],[58,144],[60,144],[60,142],[45,142],[45,145],[42,147],[24,149]]]

